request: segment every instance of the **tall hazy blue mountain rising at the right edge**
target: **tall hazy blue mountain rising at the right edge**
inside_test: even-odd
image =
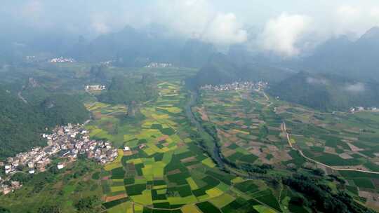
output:
[[[379,81],[379,27],[371,28],[357,41],[347,36],[330,39],[295,65],[314,73]]]

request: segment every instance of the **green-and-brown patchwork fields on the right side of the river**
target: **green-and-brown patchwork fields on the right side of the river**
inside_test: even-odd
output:
[[[195,114],[204,126],[213,125],[220,152],[233,169],[262,173],[261,178],[320,169],[330,177],[343,177],[350,195],[378,209],[379,174],[361,171],[379,172],[379,114],[324,114],[269,98],[262,91],[201,94]],[[297,150],[319,164],[305,160]],[[266,164],[275,170],[260,171]],[[328,185],[339,187],[335,184]]]

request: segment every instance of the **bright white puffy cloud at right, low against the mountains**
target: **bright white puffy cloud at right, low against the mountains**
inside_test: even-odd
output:
[[[288,15],[282,13],[271,19],[260,34],[258,45],[284,57],[298,55],[300,49],[296,42],[310,29],[311,18],[305,15]]]

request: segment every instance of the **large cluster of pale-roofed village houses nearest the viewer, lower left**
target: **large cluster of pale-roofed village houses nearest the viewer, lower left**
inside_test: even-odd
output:
[[[52,134],[43,134],[41,137],[47,140],[48,146],[18,153],[15,157],[7,158],[6,163],[0,162],[6,174],[0,177],[0,193],[7,194],[22,187],[20,182],[11,181],[12,174],[45,172],[51,166],[52,158],[60,159],[56,166],[62,170],[67,163],[77,160],[78,155],[85,155],[101,164],[112,162],[118,156],[112,142],[91,140],[81,124],[57,127]]]

